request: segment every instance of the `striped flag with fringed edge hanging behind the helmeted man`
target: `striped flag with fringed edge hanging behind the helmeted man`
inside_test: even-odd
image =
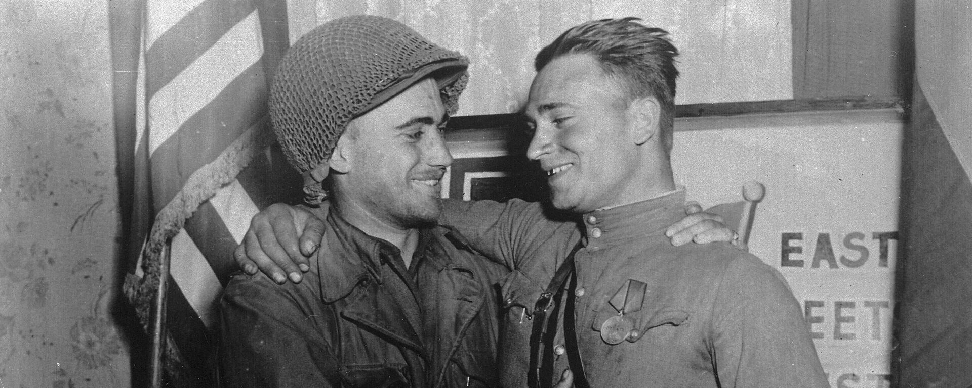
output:
[[[268,85],[289,47],[287,3],[145,0],[127,16],[137,36],[119,45],[127,62],[115,60],[116,89],[127,80],[121,94],[133,97],[116,95],[132,263],[124,291],[147,326],[167,246],[165,370],[176,386],[214,386],[214,307],[235,269],[231,251],[261,207],[299,192],[282,188],[295,173],[269,146],[266,117]]]

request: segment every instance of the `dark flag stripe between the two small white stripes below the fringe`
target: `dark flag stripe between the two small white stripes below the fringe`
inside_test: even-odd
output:
[[[232,260],[236,240],[226,228],[223,217],[209,201],[206,201],[186,220],[185,229],[195,243],[195,247],[209,262],[209,267],[216,273],[220,284],[226,287],[229,274],[236,271],[236,264]]]

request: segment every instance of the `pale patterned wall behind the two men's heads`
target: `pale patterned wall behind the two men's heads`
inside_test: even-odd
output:
[[[291,39],[335,17],[399,20],[469,56],[459,114],[516,112],[539,49],[578,23],[638,16],[680,51],[677,104],[793,98],[790,0],[289,0]]]

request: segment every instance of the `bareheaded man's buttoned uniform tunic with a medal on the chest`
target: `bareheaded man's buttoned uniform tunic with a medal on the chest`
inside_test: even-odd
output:
[[[526,385],[532,309],[578,240],[574,320],[592,387],[827,386],[779,272],[728,243],[676,247],[664,236],[684,216],[683,204],[679,190],[571,224],[551,222],[522,201],[447,202],[446,221],[473,226],[460,229],[471,244],[513,269],[501,281],[503,386]],[[608,344],[602,324],[619,314],[608,301],[623,306],[629,279],[646,284],[642,306],[625,313],[634,323],[629,338]],[[554,342],[565,343],[562,327]],[[559,355],[555,374],[567,368],[567,355]]]

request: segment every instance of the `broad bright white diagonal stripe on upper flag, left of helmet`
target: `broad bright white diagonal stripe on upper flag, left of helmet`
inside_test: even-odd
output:
[[[149,101],[149,154],[152,155],[192,114],[218,96],[229,82],[260,60],[262,52],[260,17],[254,11]]]

